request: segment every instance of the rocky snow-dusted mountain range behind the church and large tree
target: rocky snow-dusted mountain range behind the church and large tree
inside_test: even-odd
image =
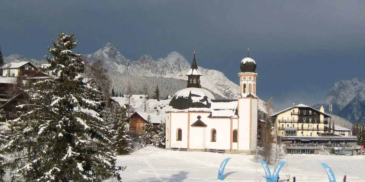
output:
[[[143,55],[138,61],[131,61],[120,54],[120,52],[110,43],[93,54],[83,55],[83,59],[85,63],[90,65],[97,60],[102,60],[104,67],[107,69],[108,75],[111,78],[122,77],[123,75],[133,75],[187,80],[188,77],[185,76],[185,74],[191,67],[191,63],[178,52],[171,52],[166,58],[159,58],[157,60],[153,60],[149,55]],[[14,62],[15,60],[30,61],[36,65],[45,63],[45,60],[29,59],[22,55],[5,57],[5,62]],[[199,65],[199,58],[197,58],[197,64]],[[239,63],[237,63],[237,65],[239,65]],[[239,95],[239,86],[229,80],[222,72],[202,67],[199,67],[199,70],[203,74],[203,76],[200,77],[202,87],[222,96],[222,98],[237,98]],[[151,88],[151,90],[152,89],[154,88]],[[261,99],[259,100],[259,109],[262,112],[267,113],[266,103]],[[274,113],[273,109],[270,109],[270,113]]]

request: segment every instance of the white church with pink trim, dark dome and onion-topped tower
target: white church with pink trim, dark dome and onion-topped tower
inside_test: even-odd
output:
[[[166,111],[166,149],[254,153],[257,138],[256,63],[241,61],[240,95],[215,99],[200,85],[195,52],[187,88],[173,95]]]

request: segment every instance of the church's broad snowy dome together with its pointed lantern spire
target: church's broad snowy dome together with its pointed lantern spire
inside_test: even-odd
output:
[[[211,106],[211,100],[215,99],[211,92],[201,88],[200,76],[203,76],[196,65],[195,51],[194,59],[188,76],[187,88],[177,91],[169,103],[175,110],[205,111]]]

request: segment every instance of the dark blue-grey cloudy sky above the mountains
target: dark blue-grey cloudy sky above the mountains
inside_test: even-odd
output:
[[[74,32],[77,51],[112,43],[127,59],[177,51],[238,83],[239,63],[255,59],[258,96],[276,109],[314,104],[335,82],[365,78],[365,1],[4,1],[4,56],[43,59],[51,39]]]

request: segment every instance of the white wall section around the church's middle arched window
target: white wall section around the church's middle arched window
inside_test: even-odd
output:
[[[205,123],[205,147],[207,149],[224,149],[231,148],[231,119],[230,118],[210,118]],[[216,142],[212,142],[212,130],[216,130]]]

